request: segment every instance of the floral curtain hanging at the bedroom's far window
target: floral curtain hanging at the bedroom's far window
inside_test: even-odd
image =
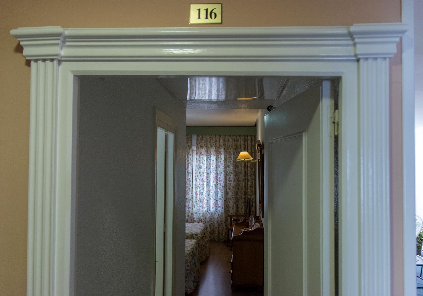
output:
[[[197,135],[192,148],[187,136],[186,222],[209,225],[211,239],[222,241],[228,215],[245,214],[248,199],[254,210],[256,165],[236,158],[240,151],[255,155],[255,136]]]

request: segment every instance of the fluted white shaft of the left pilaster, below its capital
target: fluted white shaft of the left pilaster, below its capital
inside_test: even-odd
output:
[[[31,61],[27,295],[51,295],[57,60]]]

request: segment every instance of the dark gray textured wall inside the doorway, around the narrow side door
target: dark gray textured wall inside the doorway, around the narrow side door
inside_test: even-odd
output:
[[[173,295],[184,295],[186,109],[154,78],[81,77],[77,296],[154,293],[154,106],[178,122]]]

